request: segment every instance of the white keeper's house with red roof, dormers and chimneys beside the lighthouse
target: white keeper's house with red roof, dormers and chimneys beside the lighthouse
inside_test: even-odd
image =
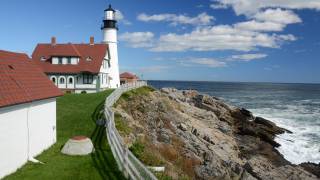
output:
[[[108,45],[38,44],[32,59],[48,75],[49,79],[64,92],[98,92],[111,88],[111,68]]]

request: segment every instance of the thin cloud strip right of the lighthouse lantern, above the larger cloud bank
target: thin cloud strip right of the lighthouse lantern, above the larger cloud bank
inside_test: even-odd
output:
[[[190,24],[190,25],[208,25],[212,23],[214,20],[213,16],[208,15],[207,13],[201,13],[195,17],[189,17],[186,15],[176,15],[176,14],[154,14],[154,15],[147,15],[147,14],[139,14],[137,17],[138,20],[144,22],[170,22],[171,25],[178,25],[178,24]]]

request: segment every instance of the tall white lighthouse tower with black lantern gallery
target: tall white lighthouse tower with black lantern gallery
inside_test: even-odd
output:
[[[108,72],[109,83],[111,88],[120,86],[119,64],[118,64],[118,46],[117,46],[117,20],[116,11],[111,5],[104,10],[104,20],[101,27],[103,32],[103,43],[109,46],[110,68]]]

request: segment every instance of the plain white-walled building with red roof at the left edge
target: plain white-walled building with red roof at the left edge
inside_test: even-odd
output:
[[[0,50],[0,179],[56,142],[61,95],[26,54]]]

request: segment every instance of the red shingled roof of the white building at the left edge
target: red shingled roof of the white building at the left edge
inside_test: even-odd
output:
[[[28,55],[0,50],[0,107],[61,95]]]

